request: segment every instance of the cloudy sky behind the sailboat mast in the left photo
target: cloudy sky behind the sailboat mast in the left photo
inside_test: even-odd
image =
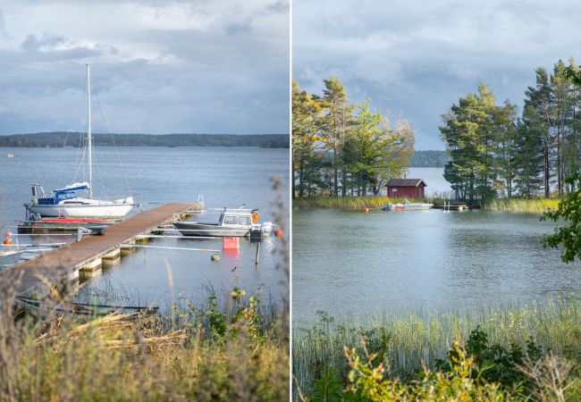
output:
[[[0,134],[79,130],[85,63],[114,132],[289,131],[288,0],[3,0]]]

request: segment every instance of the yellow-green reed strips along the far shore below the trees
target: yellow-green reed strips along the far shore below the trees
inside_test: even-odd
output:
[[[442,206],[442,197],[427,197],[425,202],[432,203],[436,207]],[[484,211],[523,212],[543,214],[547,210],[555,210],[560,203],[560,198],[494,198],[483,205],[473,205],[476,209]],[[387,203],[401,203],[403,198],[392,197],[302,197],[292,202],[293,207],[298,208],[343,208],[343,209],[379,209]],[[446,199],[451,205],[464,204],[459,201]]]

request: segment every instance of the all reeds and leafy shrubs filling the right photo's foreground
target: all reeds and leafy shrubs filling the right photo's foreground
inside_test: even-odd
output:
[[[461,392],[466,398],[455,400],[481,400],[480,392],[492,392],[486,400],[578,400],[579,333],[581,303],[572,299],[363,321],[319,313],[311,328],[293,329],[293,393],[327,401],[448,400]]]

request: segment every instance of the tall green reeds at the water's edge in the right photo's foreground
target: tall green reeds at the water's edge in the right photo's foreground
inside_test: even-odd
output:
[[[329,367],[344,379],[348,373],[343,348],[365,340],[370,350],[381,349],[392,376],[405,379],[426,364],[434,368],[447,356],[454,339],[467,339],[480,326],[491,343],[525,346],[533,339],[544,350],[581,356],[581,302],[557,300],[544,305],[497,306],[470,313],[419,311],[369,320],[328,317],[309,329],[293,329],[292,365],[298,389],[308,395]]]

